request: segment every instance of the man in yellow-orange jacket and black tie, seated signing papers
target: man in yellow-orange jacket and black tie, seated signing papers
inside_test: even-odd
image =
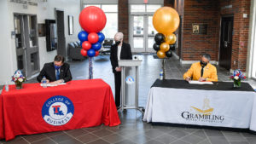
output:
[[[217,70],[216,67],[209,63],[211,60],[211,55],[204,54],[201,57],[200,62],[196,62],[192,64],[189,68],[188,72],[185,72],[183,78],[186,81],[190,81],[191,78],[193,80],[202,81],[218,81]]]

